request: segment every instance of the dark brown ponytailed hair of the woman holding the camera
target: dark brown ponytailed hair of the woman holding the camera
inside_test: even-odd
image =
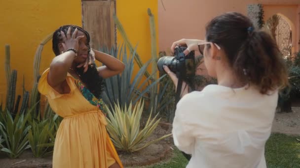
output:
[[[214,18],[206,26],[206,40],[225,51],[240,82],[255,84],[262,94],[288,84],[276,42],[267,32],[256,30],[248,17],[229,12]]]

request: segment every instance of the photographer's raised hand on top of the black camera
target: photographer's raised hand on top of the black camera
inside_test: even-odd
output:
[[[174,49],[177,46],[187,46],[187,49],[184,51],[185,55],[187,56],[189,52],[191,51],[197,51],[198,50],[198,44],[201,43],[201,40],[197,39],[181,39],[178,41],[175,41],[171,46],[171,51],[174,53]]]

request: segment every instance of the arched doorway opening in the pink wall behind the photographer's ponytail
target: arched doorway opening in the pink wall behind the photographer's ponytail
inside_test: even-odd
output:
[[[270,31],[284,57],[292,56],[293,31],[292,22],[282,14],[271,16],[265,23],[264,29]]]

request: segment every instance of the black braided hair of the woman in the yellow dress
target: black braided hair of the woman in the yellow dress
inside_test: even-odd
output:
[[[52,50],[55,54],[55,56],[60,55],[58,44],[63,42],[63,37],[61,34],[61,31],[63,31],[65,34],[67,34],[68,28],[71,27],[71,34],[75,31],[75,28],[77,28],[79,31],[82,31],[86,38],[87,38],[87,47],[88,47],[88,54],[90,53],[90,35],[87,31],[85,31],[83,28],[80,28],[75,25],[65,25],[58,29],[56,29],[53,33],[52,38]],[[84,73],[84,68],[76,68],[75,72],[79,75],[80,80],[86,84],[89,91],[96,97],[100,98],[103,87],[104,87],[104,80],[101,76],[99,76],[98,70],[96,68],[96,64],[93,63],[92,65],[89,65],[87,71]]]

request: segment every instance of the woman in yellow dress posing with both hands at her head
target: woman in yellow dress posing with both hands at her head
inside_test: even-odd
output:
[[[123,168],[106,131],[103,79],[124,70],[113,56],[93,50],[84,29],[66,25],[53,34],[56,57],[38,90],[62,120],[54,144],[53,168]],[[94,60],[104,66],[96,67]]]

